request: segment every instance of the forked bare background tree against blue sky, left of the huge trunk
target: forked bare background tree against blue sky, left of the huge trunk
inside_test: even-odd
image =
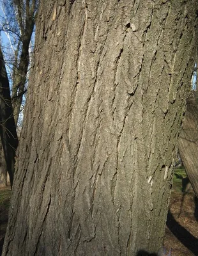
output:
[[[29,44],[31,41],[31,36],[33,35],[38,0],[26,0],[25,3],[22,3],[21,1],[13,1],[12,3],[15,6],[15,12],[18,13],[17,23],[21,33],[21,42],[19,42],[15,51],[15,61],[12,74],[13,87],[11,93],[11,100],[16,125],[19,120],[22,98],[24,93],[26,93],[27,72],[29,67]]]

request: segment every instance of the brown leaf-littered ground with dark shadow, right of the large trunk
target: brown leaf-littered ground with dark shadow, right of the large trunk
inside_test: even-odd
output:
[[[197,205],[193,192],[172,193],[164,239],[171,256],[198,256]]]

